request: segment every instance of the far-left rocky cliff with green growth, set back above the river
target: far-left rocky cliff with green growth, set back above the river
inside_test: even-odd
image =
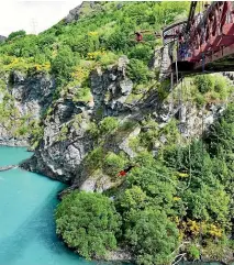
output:
[[[55,82],[46,74],[13,70],[1,77],[0,144],[29,146],[32,130],[51,104]]]

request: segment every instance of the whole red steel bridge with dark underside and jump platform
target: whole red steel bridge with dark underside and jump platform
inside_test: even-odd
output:
[[[200,7],[199,7],[200,5]],[[192,1],[188,20],[163,31],[167,47],[166,73],[234,70],[234,2]]]

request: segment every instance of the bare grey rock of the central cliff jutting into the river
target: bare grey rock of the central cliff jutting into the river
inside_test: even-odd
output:
[[[208,126],[222,112],[223,106],[210,106],[201,110],[189,101],[182,104],[174,103],[170,99],[163,101],[156,88],[143,93],[141,100],[131,101],[133,82],[125,75],[127,63],[129,59],[122,56],[118,65],[105,70],[97,68],[90,74],[92,97],[89,102],[74,101],[70,95],[51,106],[52,112],[43,121],[43,139],[33,157],[23,164],[24,168],[68,183],[71,185],[70,189],[79,187],[82,190],[101,192],[116,183],[102,172],[90,175],[86,170],[85,157],[94,148],[94,141],[89,133],[90,121],[97,122],[110,115],[118,117],[121,122],[125,120],[141,122],[151,114],[159,128],[164,128],[176,118],[180,120],[178,124],[180,133],[189,137],[199,136],[202,126]],[[45,84],[45,80],[42,82],[41,79],[41,84]],[[46,88],[53,87],[49,84],[42,89],[47,91]],[[21,95],[20,88],[19,84],[15,87],[19,95]],[[22,99],[22,96],[19,98]],[[129,157],[134,157],[130,139],[137,136],[142,130],[147,129],[136,126],[129,134],[121,135],[118,141],[110,139],[107,150],[122,151]],[[153,147],[153,154],[157,155],[158,148],[165,143],[167,137],[161,135]]]

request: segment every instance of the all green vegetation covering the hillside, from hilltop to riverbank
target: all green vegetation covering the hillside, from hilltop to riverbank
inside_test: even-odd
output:
[[[25,35],[24,31],[10,34],[0,44],[1,74],[49,74],[57,85],[54,101],[69,98],[87,106],[93,100],[90,73],[97,67],[107,69],[120,56],[127,55],[125,74],[134,88],[125,102],[135,104],[147,92],[155,91],[159,101],[167,103],[171,99],[169,84],[155,81],[157,73],[148,67],[159,42],[149,34],[144,35],[144,43],[137,44],[134,32],[159,31],[182,19],[189,4],[103,2],[93,11],[85,3],[78,21],[60,21],[37,36]],[[180,100],[179,89],[178,86],[174,90],[175,104]],[[11,86],[3,80],[0,91],[1,125],[13,137],[29,137],[36,147],[44,133],[43,122],[19,112]],[[214,75],[185,78],[181,91],[182,100],[198,107],[223,102],[230,95],[224,77]],[[110,99],[109,92],[105,99]],[[52,104],[43,119],[52,118],[53,111]],[[122,123],[120,118],[105,117],[105,106],[96,110],[88,130],[93,148],[85,157],[83,166],[87,176],[98,172],[116,184],[108,190],[114,200],[97,192],[71,191],[57,208],[57,234],[86,258],[103,258],[118,246],[126,246],[137,264],[165,265],[175,260],[185,241],[189,242],[183,246],[188,258],[198,260],[201,252],[222,258],[224,250],[233,247],[233,104],[203,139],[191,143],[181,141],[176,119],[158,124],[153,114],[144,111],[141,121]],[[71,137],[71,125],[78,130],[82,119],[82,114],[77,114],[70,123],[63,124],[56,140]],[[130,158],[120,151],[119,143],[135,126],[141,132],[129,141],[129,147],[135,152]],[[126,177],[119,176],[120,170],[131,165],[134,167]]]

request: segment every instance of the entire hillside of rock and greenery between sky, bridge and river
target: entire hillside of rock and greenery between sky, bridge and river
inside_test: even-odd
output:
[[[154,32],[188,9],[83,2],[0,43],[0,144],[30,146],[22,167],[69,185],[57,234],[86,258],[232,258],[233,82],[158,77]]]

